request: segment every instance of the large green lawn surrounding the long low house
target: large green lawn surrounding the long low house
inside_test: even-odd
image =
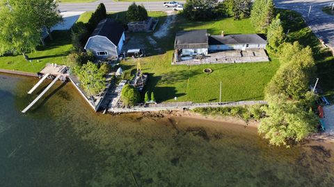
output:
[[[232,33],[255,33],[249,19],[234,21],[232,18],[216,21],[189,21],[178,15],[167,37],[154,37],[153,33],[129,34],[131,39],[145,43],[148,57],[141,59],[143,72],[149,73],[148,91],[154,91],[159,102],[193,101],[214,102],[219,100],[219,84],[223,82],[222,100],[262,100],[264,87],[279,67],[276,58],[272,62],[244,64],[205,64],[200,66],[171,65],[175,32],[207,28],[213,35]],[[157,44],[150,43],[148,35]],[[161,51],[159,51],[161,49]],[[125,76],[136,71],[136,60],[122,62]],[[202,70],[210,68],[212,73]]]

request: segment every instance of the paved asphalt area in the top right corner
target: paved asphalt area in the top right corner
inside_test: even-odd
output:
[[[313,33],[334,47],[334,16],[327,15],[321,9],[331,6],[333,0],[274,0],[277,8],[295,10],[303,15]],[[308,11],[310,10],[310,16]]]

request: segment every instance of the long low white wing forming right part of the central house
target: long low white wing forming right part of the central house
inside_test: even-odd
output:
[[[257,34],[251,35],[212,35],[209,37],[209,51],[246,50],[266,48],[267,41]]]

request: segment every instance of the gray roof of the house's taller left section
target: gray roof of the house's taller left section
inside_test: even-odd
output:
[[[207,30],[190,30],[176,33],[175,48],[208,48]]]

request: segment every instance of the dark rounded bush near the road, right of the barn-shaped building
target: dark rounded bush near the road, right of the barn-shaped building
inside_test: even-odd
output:
[[[127,21],[145,21],[148,19],[148,12],[144,6],[137,6],[136,3],[132,3],[127,8]]]

